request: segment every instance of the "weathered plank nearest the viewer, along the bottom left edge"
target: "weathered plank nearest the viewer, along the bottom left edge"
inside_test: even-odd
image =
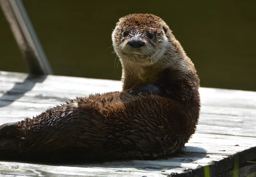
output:
[[[18,167],[17,169],[12,168]],[[126,168],[125,166],[119,166],[113,168],[107,166],[105,168],[101,167],[83,167],[76,166],[50,166],[41,164],[31,164],[31,163],[13,163],[13,162],[1,162],[0,171],[3,174],[23,174],[30,176],[97,176],[97,177],[119,177],[119,176],[129,176],[129,177],[166,177],[168,173],[164,170],[155,169],[144,169],[137,170],[136,168]],[[170,169],[170,171],[179,171],[179,168]]]

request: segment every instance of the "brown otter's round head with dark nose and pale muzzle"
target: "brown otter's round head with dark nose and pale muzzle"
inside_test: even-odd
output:
[[[162,58],[170,45],[171,33],[160,17],[152,14],[131,14],[119,19],[112,33],[116,54],[124,62],[152,65]]]

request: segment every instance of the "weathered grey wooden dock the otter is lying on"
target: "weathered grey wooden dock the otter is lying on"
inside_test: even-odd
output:
[[[75,96],[121,90],[120,81],[0,71],[0,124]],[[256,92],[200,88],[202,108],[186,149],[158,160],[32,164],[0,161],[1,177],[256,177]]]

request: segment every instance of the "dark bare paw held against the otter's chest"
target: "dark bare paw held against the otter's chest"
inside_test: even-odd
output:
[[[136,94],[136,95],[139,93],[152,93],[152,94],[159,95],[160,89],[154,84],[143,84],[140,87],[131,89],[129,93]]]

